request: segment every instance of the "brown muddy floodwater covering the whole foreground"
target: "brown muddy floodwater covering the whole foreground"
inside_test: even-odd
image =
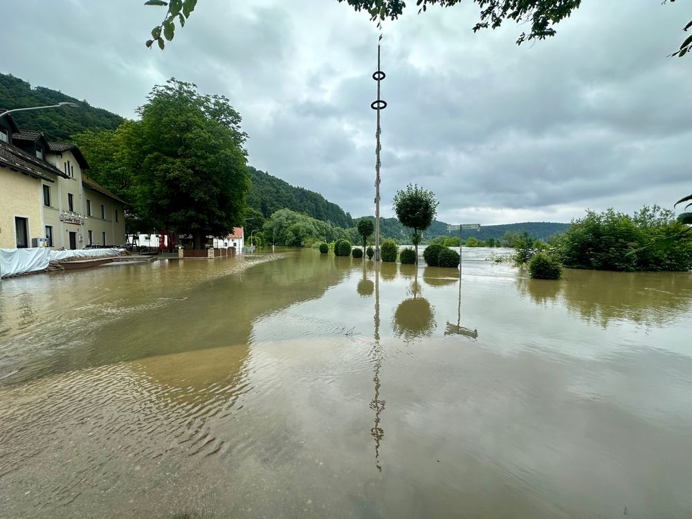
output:
[[[0,284],[0,517],[692,517],[692,275],[278,251]]]

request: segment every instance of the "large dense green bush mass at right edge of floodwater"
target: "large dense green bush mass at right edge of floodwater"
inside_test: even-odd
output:
[[[644,207],[632,217],[587,211],[559,243],[563,265],[605,271],[687,271],[692,235],[671,210]],[[673,239],[675,237],[675,239]]]

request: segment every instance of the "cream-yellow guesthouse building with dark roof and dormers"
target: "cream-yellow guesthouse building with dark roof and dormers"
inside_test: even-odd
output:
[[[0,117],[0,247],[125,244],[125,202],[82,174],[69,143]]]

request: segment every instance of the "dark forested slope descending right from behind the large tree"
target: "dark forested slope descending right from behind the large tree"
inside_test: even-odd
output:
[[[307,215],[333,226],[349,228],[354,226],[351,215],[342,208],[322,197],[321,194],[304,188],[295,188],[282,179],[255,170],[248,166],[252,187],[248,193],[247,206],[262,213],[268,218],[280,209],[305,212]]]

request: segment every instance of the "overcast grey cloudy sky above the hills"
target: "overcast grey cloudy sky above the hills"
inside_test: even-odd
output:
[[[165,51],[143,0],[4,0],[0,71],[133,118],[154,84],[230,98],[249,164],[374,214],[376,43],[336,0],[199,0]],[[671,208],[692,192],[692,57],[667,58],[682,2],[585,0],[558,34],[473,33],[475,3],[415,2],[383,28],[382,202],[432,190],[438,219],[570,221],[586,208]],[[528,29],[528,28],[526,28]]]

